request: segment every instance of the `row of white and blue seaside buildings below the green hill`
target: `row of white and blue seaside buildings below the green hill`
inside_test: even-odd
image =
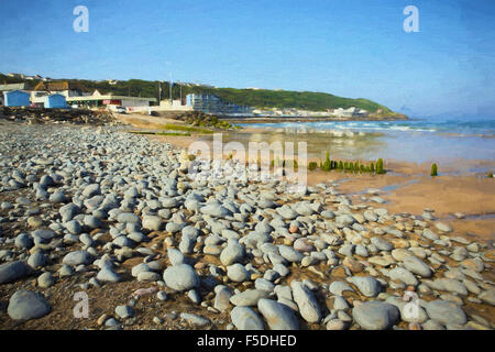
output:
[[[188,94],[182,99],[118,96],[99,90],[89,91],[81,85],[64,80],[52,80],[48,77],[9,74],[9,77],[21,78],[25,81],[38,81],[0,85],[0,106],[4,107],[37,107],[45,109],[92,109],[110,110],[120,113],[152,111],[202,111],[204,113],[221,114],[226,117],[334,117],[362,118],[366,110],[351,107],[349,109],[328,109],[327,111],[309,111],[298,109],[256,109],[224,101],[211,94]],[[113,79],[108,80],[114,85]],[[193,86],[194,84],[182,84]],[[257,89],[257,88],[249,88]]]

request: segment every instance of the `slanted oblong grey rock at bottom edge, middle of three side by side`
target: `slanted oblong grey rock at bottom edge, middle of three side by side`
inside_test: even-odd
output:
[[[262,298],[257,302],[257,309],[272,330],[299,329],[299,321],[294,315],[294,311],[283,304],[273,299]]]

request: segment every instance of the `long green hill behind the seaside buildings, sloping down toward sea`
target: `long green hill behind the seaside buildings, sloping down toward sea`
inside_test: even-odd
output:
[[[114,94],[120,96],[135,96],[158,99],[158,81],[130,79],[120,80],[116,85],[108,81],[95,81],[87,79],[57,79],[67,80],[86,91],[98,89],[101,94]],[[12,78],[0,74],[0,84],[22,82],[20,78]],[[25,80],[34,87],[36,80]],[[172,97],[179,99],[180,90],[183,98],[187,94],[212,94],[219,98],[240,106],[254,108],[295,108],[310,111],[326,111],[327,109],[356,107],[367,110],[376,116],[398,116],[387,107],[369,99],[351,99],[333,96],[326,92],[292,91],[292,90],[268,90],[268,89],[235,89],[235,88],[211,88],[207,86],[174,85]],[[169,97],[169,84],[162,82],[162,99]]]

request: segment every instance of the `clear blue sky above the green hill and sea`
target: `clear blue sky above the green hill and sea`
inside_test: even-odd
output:
[[[73,10],[89,10],[89,33]],[[419,33],[405,33],[406,6]],[[495,116],[493,0],[0,0],[0,72],[326,91]]]

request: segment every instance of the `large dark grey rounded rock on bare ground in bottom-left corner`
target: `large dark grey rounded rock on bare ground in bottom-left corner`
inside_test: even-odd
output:
[[[52,307],[43,295],[31,290],[18,290],[9,300],[7,312],[14,320],[31,320],[46,316]]]

